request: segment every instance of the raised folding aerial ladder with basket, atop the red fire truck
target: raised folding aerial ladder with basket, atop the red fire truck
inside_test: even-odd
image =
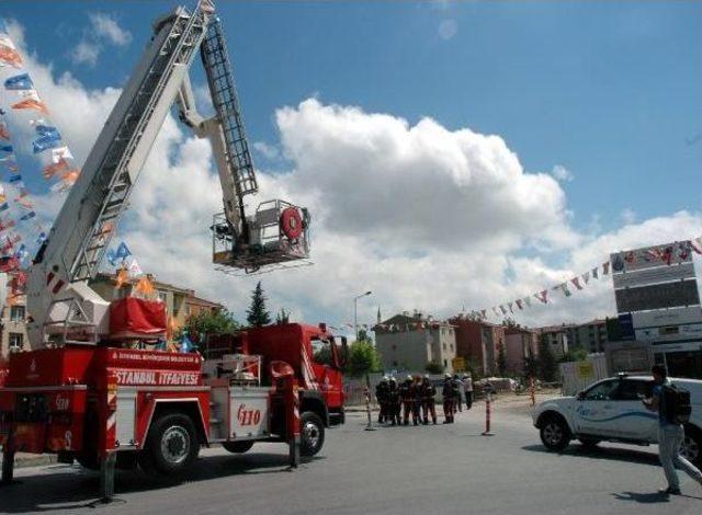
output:
[[[189,69],[200,52],[215,115],[195,108]],[[173,105],[197,137],[206,137],[222,184],[224,213],[213,218],[213,261],[252,273],[306,263],[307,209],[275,199],[246,211],[258,184],[222,22],[211,0],[158,19],[154,36],[107,117],[27,279],[32,347],[99,343],[109,306],[90,286],[128,206],[154,141]]]

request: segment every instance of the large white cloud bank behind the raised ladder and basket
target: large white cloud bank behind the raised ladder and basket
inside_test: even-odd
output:
[[[84,160],[120,91],[89,90],[34,56],[26,60],[55,122]],[[373,295],[359,301],[361,323],[375,320],[378,305],[383,316],[417,308],[448,317],[463,305],[489,308],[569,281],[611,251],[689,238],[702,227],[698,210],[632,219],[605,233],[595,225],[578,233],[552,175],[525,171],[499,136],[449,130],[430,118],[410,125],[390,114],[310,99],[280,108],[275,121],[275,147],[291,170],[259,172],[261,193],[249,206],[280,196],[309,207],[314,266],[262,277],[213,270],[208,227],[222,195],[212,151],[171,116],[117,237],[145,271],[225,304],[240,319],[259,278],[272,311],[285,307],[313,323],[352,321],[352,299],[365,290]],[[58,207],[57,197],[41,198],[42,209]],[[556,323],[613,314],[609,278],[570,289],[568,300],[550,291],[548,306],[534,301],[517,320]]]

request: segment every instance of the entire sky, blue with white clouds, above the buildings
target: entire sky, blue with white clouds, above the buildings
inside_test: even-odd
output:
[[[0,7],[78,161],[151,21],[174,5]],[[568,281],[613,251],[702,233],[700,2],[242,1],[217,2],[217,13],[261,185],[250,207],[276,196],[306,205],[315,264],[258,277],[213,270],[212,152],[174,116],[115,242],[238,319],[259,279],[273,312],[313,323],[353,322],[366,290],[360,323],[378,306],[383,318],[443,318]],[[206,111],[199,62],[191,76]],[[65,195],[20,158],[48,221]],[[552,297],[514,318],[615,313],[609,278]]]

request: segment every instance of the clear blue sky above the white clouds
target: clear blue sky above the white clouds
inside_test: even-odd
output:
[[[9,2],[29,47],[89,88],[124,81],[172,2]],[[529,171],[555,164],[576,227],[700,205],[700,2],[219,2],[248,131],[309,95],[414,123],[501,135]],[[89,12],[133,34],[105,66],[70,49]],[[443,39],[438,26],[455,21]],[[259,161],[261,158],[259,157]],[[686,186],[687,185],[687,186]]]

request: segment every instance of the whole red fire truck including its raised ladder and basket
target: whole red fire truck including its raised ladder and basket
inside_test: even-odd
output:
[[[194,107],[188,75],[197,50],[215,112],[207,119]],[[103,499],[113,494],[115,467],[173,474],[214,444],[244,453],[254,442],[285,442],[295,466],[301,451],[319,451],[325,427],[343,422],[341,352],[324,325],[224,335],[202,355],[161,352],[152,345],[166,334],[161,302],[107,301],[91,288],[173,104],[213,147],[224,201],[211,227],[215,264],[250,273],[308,256],[305,208],[270,201],[246,213],[245,195],[258,186],[212,1],[160,18],[29,270],[32,351],[11,355],[0,388],[3,482],[12,480],[16,451],[99,468]],[[316,363],[325,346],[330,359]]]

